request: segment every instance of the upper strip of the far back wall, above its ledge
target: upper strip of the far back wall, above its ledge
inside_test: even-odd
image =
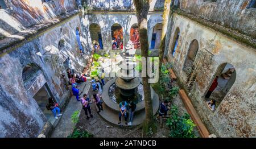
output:
[[[164,0],[152,0],[150,11],[161,10],[164,6]],[[88,10],[135,10],[133,0],[89,0],[85,2]]]

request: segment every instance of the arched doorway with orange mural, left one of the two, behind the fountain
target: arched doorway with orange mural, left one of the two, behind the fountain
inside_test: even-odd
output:
[[[112,49],[123,49],[123,28],[115,23],[111,27]]]

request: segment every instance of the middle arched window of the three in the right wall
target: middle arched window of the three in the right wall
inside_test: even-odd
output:
[[[192,42],[189,45],[187,58],[185,59],[185,63],[184,63],[183,69],[185,72],[190,73],[191,67],[195,61],[198,49],[199,49],[199,44],[197,40],[196,39],[192,40]]]

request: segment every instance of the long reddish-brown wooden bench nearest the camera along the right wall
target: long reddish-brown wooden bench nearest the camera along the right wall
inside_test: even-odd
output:
[[[185,93],[183,89],[179,90],[180,97],[185,105],[185,108],[187,109],[189,115],[191,115],[192,121],[196,124],[199,133],[201,137],[203,138],[209,138],[209,131],[207,130],[207,127],[204,126],[204,123],[201,121],[199,115],[196,113],[195,108],[193,107],[191,100]]]

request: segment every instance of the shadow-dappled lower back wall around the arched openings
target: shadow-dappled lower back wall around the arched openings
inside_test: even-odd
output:
[[[162,13],[148,14],[148,42],[151,43],[152,32],[155,24],[162,23]],[[96,23],[101,28],[102,43],[104,50],[112,49],[111,27],[114,23],[118,23],[123,28],[123,45],[126,45],[130,39],[130,29],[133,24],[137,23],[137,16],[135,13],[89,13],[83,16],[82,24],[84,26],[83,32],[89,32],[89,26]],[[92,49],[92,40],[89,34],[86,34],[86,42],[88,48]]]

